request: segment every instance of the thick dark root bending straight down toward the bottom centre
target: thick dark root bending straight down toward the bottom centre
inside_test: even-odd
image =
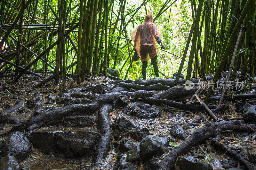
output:
[[[113,106],[111,104],[105,104],[101,107],[98,113],[98,127],[101,138],[93,155],[93,163],[96,166],[98,166],[109,151],[111,142],[111,128],[108,115],[112,109]]]

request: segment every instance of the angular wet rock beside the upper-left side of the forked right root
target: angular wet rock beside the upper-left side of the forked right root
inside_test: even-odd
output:
[[[140,142],[141,159],[150,159],[153,156],[162,155],[169,146],[167,138],[148,135]]]

